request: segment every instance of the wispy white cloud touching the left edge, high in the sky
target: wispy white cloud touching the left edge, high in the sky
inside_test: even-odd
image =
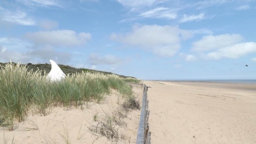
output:
[[[23,11],[9,11],[5,9],[0,9],[1,19],[3,21],[14,23],[18,25],[24,25],[24,26],[33,26],[35,25],[35,22],[32,18],[29,18],[27,16],[27,13]]]

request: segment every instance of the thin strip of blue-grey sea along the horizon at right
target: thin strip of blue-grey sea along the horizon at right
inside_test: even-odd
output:
[[[215,83],[256,85],[256,80],[166,80],[166,81],[170,81],[170,82],[215,82]]]

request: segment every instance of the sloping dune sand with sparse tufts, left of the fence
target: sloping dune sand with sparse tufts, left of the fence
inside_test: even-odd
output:
[[[133,88],[133,92],[135,96],[142,99],[142,88]],[[102,103],[89,103],[89,108],[85,106],[83,110],[53,108],[46,116],[31,112],[25,121],[17,123],[14,131],[0,128],[0,144],[4,144],[7,140],[7,144],[12,144],[12,139],[13,144],[66,144],[64,137],[69,139],[70,144],[134,144],[137,138],[139,110],[131,111],[128,118],[125,118],[127,127],[119,128],[120,133],[125,134],[126,140],[108,141],[106,137],[92,134],[88,129],[91,124],[97,124],[94,121],[95,115],[98,121],[106,114],[111,115],[122,104],[122,100],[122,96],[112,92]],[[38,126],[38,130],[34,129],[35,125]]]

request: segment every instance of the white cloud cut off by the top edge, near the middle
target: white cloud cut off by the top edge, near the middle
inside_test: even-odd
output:
[[[138,6],[150,6],[157,0],[117,0],[124,6],[138,7]]]

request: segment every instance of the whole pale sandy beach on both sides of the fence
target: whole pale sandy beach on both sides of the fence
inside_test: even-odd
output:
[[[256,85],[143,83],[149,86],[152,144],[256,144]],[[133,93],[142,100],[142,88],[133,87]],[[15,130],[1,128],[0,143],[12,144],[13,139],[13,144],[68,144],[68,138],[71,144],[135,144],[140,110],[130,111],[124,119],[126,126],[119,130],[125,139],[118,142],[89,130],[112,115],[122,101],[122,96],[112,91],[101,103],[88,103],[82,110],[55,107],[46,116],[31,112]]]

